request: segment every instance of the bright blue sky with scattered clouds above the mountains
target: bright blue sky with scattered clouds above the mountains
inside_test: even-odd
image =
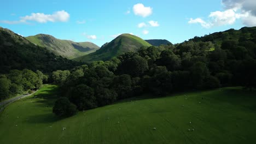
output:
[[[256,26],[255,0],[1,2],[0,26],[99,46],[121,33],[181,43],[195,36]],[[140,24],[140,25],[139,25]]]

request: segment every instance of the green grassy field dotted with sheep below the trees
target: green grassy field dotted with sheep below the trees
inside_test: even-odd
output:
[[[56,94],[57,86],[48,85],[35,94],[37,98],[10,104],[0,113],[0,143],[256,141],[256,93],[242,88],[126,100],[66,119],[51,112]]]

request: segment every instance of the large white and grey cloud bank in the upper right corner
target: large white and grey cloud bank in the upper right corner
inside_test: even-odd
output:
[[[208,22],[200,18],[190,19],[189,23],[200,23],[202,27],[232,25],[241,20],[245,26],[256,26],[255,0],[222,0],[224,11],[214,11],[208,16]],[[239,13],[238,13],[239,11]]]

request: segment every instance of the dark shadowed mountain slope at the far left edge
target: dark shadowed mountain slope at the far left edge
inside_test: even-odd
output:
[[[32,44],[9,29],[0,27],[0,74],[11,69],[41,70],[49,73],[58,69],[69,69],[78,62],[56,56],[45,47]]]

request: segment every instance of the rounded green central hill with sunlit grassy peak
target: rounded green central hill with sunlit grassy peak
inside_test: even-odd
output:
[[[110,43],[104,44],[100,50],[75,58],[74,61],[88,63],[92,61],[107,61],[112,57],[119,56],[121,53],[137,51],[142,46],[149,47],[152,45],[135,35],[121,34]]]

